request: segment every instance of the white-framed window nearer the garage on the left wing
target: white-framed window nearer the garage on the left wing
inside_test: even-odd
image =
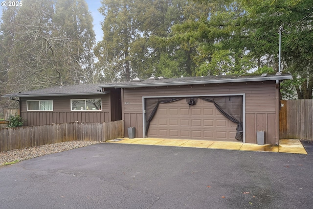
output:
[[[71,99],[71,111],[101,111],[101,99]]]

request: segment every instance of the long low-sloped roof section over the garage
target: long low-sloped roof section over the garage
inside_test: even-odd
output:
[[[292,76],[287,73],[264,73],[264,74],[244,74],[244,75],[217,75],[201,77],[182,77],[182,78],[151,78],[147,80],[137,79],[135,82],[103,84],[103,88],[138,88],[138,87],[158,87],[158,86],[179,86],[197,85],[212,83],[235,83],[248,81],[268,81],[268,80],[288,80]],[[134,81],[134,79],[133,79]]]

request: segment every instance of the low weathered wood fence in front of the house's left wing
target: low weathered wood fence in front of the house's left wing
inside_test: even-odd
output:
[[[107,141],[124,137],[124,121],[73,122],[0,129],[0,151],[71,140]]]

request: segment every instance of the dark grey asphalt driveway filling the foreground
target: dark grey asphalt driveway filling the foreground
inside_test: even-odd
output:
[[[3,209],[309,209],[308,155],[102,143],[0,167]]]

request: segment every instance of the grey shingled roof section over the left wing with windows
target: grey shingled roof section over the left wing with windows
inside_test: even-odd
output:
[[[105,94],[99,84],[81,84],[74,86],[51,87],[28,92],[5,94],[3,97],[36,97],[36,96],[66,96],[66,95]]]

